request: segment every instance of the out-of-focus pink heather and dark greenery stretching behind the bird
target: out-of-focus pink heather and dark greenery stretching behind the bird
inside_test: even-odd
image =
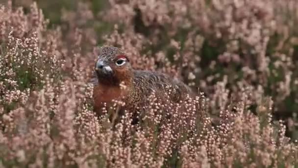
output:
[[[125,34],[126,30],[132,29],[133,33],[141,34],[149,41],[140,54],[155,56],[162,51],[173,63],[175,55],[187,57],[191,53],[188,59],[198,60],[189,61],[179,71],[186,83],[199,86],[200,91],[214,101],[217,94],[226,94],[216,93],[221,87],[218,82],[230,90],[227,100],[222,100],[226,103],[215,102],[211,109],[218,112],[220,106],[227,105],[233,98],[240,99],[237,92],[249,86],[248,97],[253,100],[248,108],[257,113],[261,104],[258,102],[262,101],[257,96],[272,97],[274,118],[283,119],[288,128],[287,135],[298,139],[297,2],[243,0],[243,4],[234,4],[231,0],[219,0],[219,4],[215,4],[212,0],[200,1],[203,3],[196,7],[191,2],[183,4],[181,0],[174,0],[169,5],[176,5],[176,9],[163,10],[163,5],[170,3],[167,0],[153,1],[156,4],[152,9],[142,8],[141,2],[129,0],[36,0],[50,21],[49,28],[60,27],[65,32],[64,38],[69,38],[72,33],[66,32],[75,28],[86,32],[87,42],[82,43],[85,45],[81,46],[82,50],[89,51],[95,45],[106,44],[102,37],[111,34],[117,24],[119,33]],[[7,3],[7,0],[0,2]],[[12,0],[13,6],[23,6],[25,12],[32,2]],[[183,7],[186,7],[185,11]],[[178,8],[181,9],[178,11]],[[91,12],[90,17],[88,12]],[[124,16],[105,18],[109,12]],[[189,45],[189,39],[196,44]],[[173,40],[180,47],[173,47]],[[158,61],[155,64],[157,69],[163,65]],[[189,72],[195,72],[195,79],[189,78]]]

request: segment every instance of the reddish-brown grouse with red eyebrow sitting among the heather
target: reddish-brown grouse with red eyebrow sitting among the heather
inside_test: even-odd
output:
[[[137,107],[146,106],[153,91],[159,99],[170,93],[172,102],[179,102],[187,94],[192,94],[187,85],[166,74],[132,69],[129,57],[116,47],[101,47],[96,54],[99,59],[95,66],[97,82],[93,96],[94,111],[98,114],[101,114],[104,103],[110,107],[113,100],[125,103],[121,112],[135,112]]]

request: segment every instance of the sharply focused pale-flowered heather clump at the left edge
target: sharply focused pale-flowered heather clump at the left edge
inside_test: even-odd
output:
[[[1,6],[0,106],[5,112],[25,105],[31,91],[46,78],[60,80],[63,60],[56,53],[57,32],[47,31],[47,21],[34,3],[25,15],[22,7]]]

